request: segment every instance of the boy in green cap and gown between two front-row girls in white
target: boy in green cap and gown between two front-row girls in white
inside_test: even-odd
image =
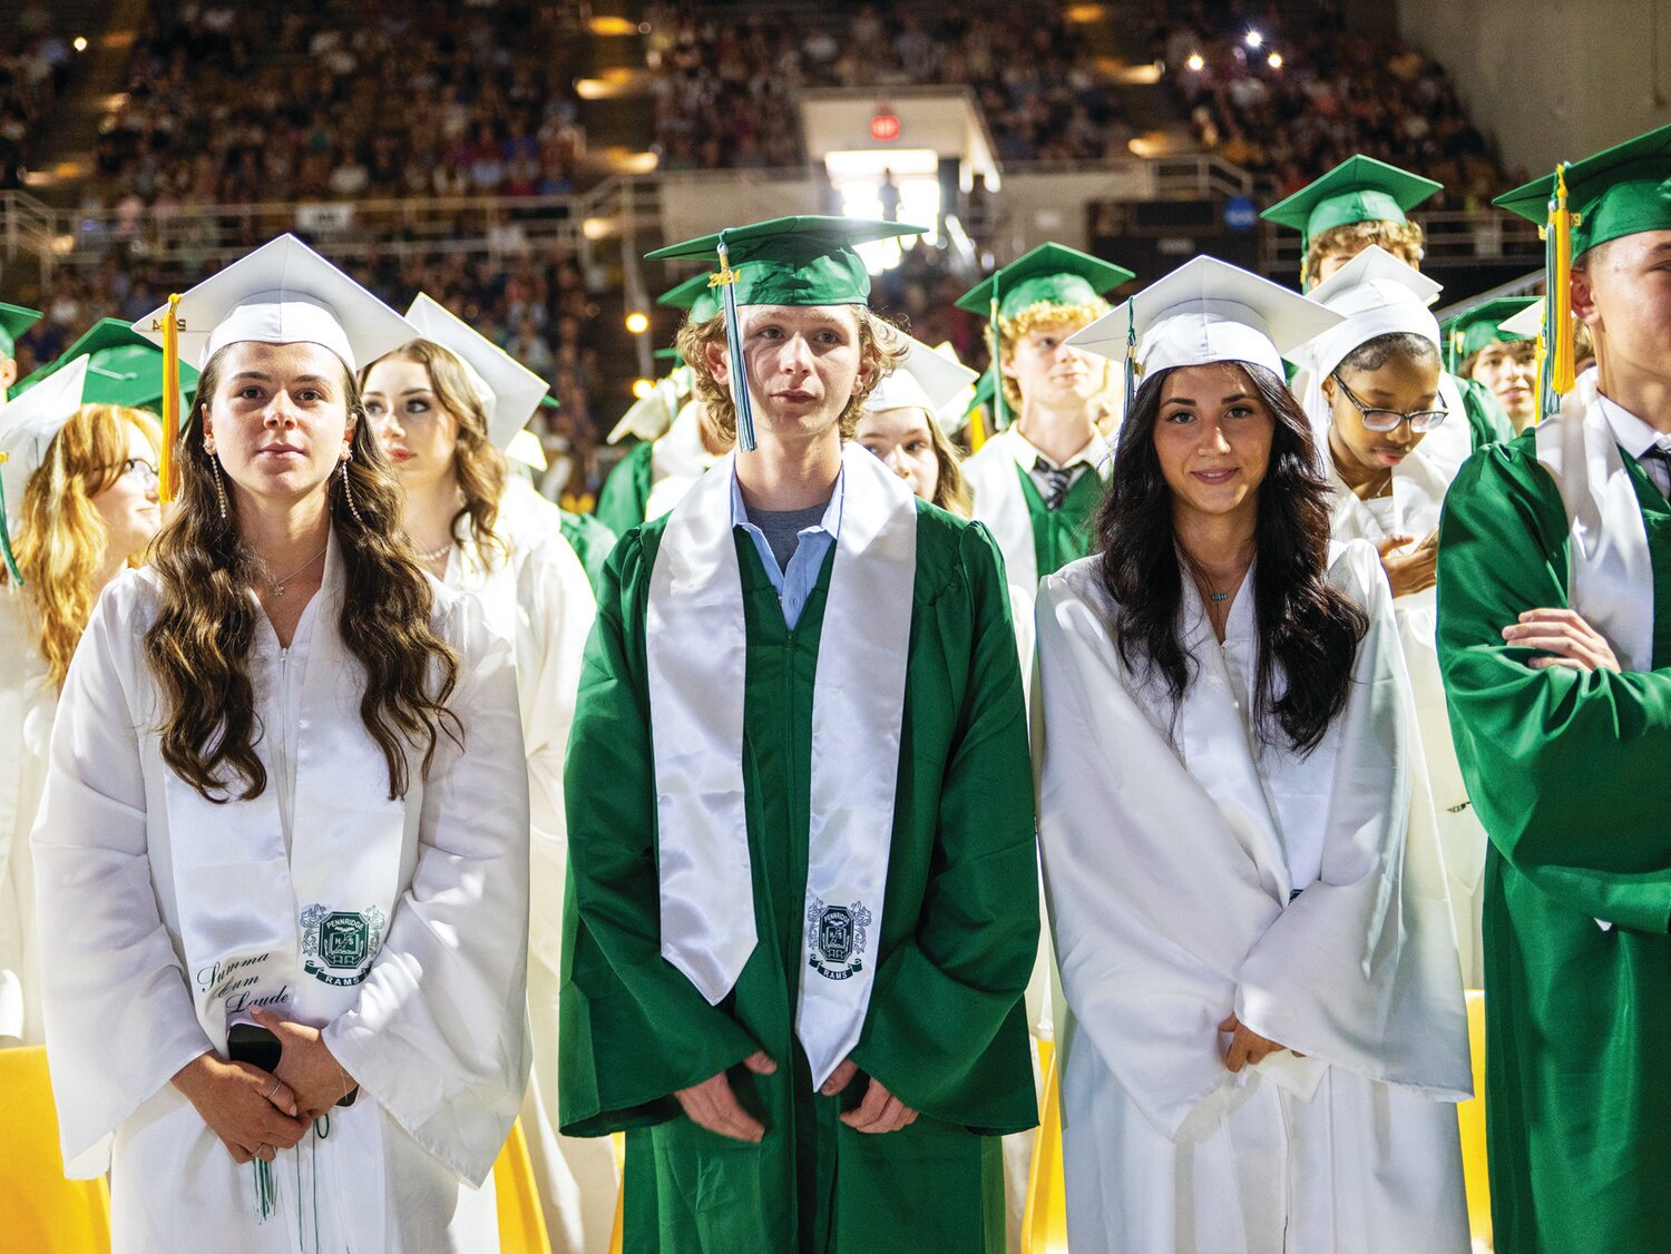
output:
[[[627,1130],[635,1254],[1003,1249],[1039,935],[1003,571],[983,528],[842,447],[891,366],[852,244],[909,230],[719,237],[732,329],[695,364],[740,451],[605,568],[566,771],[561,1117]]]

